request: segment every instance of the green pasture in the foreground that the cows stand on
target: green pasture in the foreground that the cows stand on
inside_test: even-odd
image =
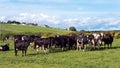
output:
[[[0,68],[120,68],[120,39],[115,39],[112,48],[86,52],[59,49],[49,54],[35,54],[29,46],[27,56],[14,55],[13,41],[9,40],[10,51],[0,52]],[[0,41],[0,44],[4,44]]]

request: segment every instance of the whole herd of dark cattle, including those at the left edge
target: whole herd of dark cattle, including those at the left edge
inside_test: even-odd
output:
[[[4,38],[3,41],[7,40],[8,37]],[[47,50],[55,46],[65,49],[76,49],[85,51],[87,46],[90,49],[100,49],[102,45],[104,47],[111,47],[113,42],[113,36],[110,33],[93,33],[89,35],[56,35],[55,37],[45,38],[43,36],[35,35],[14,35],[14,50],[15,56],[19,50],[22,51],[22,56],[26,56],[28,46],[34,43],[34,50],[38,51],[43,49],[45,53]],[[9,50],[9,44],[0,46],[0,51]]]

